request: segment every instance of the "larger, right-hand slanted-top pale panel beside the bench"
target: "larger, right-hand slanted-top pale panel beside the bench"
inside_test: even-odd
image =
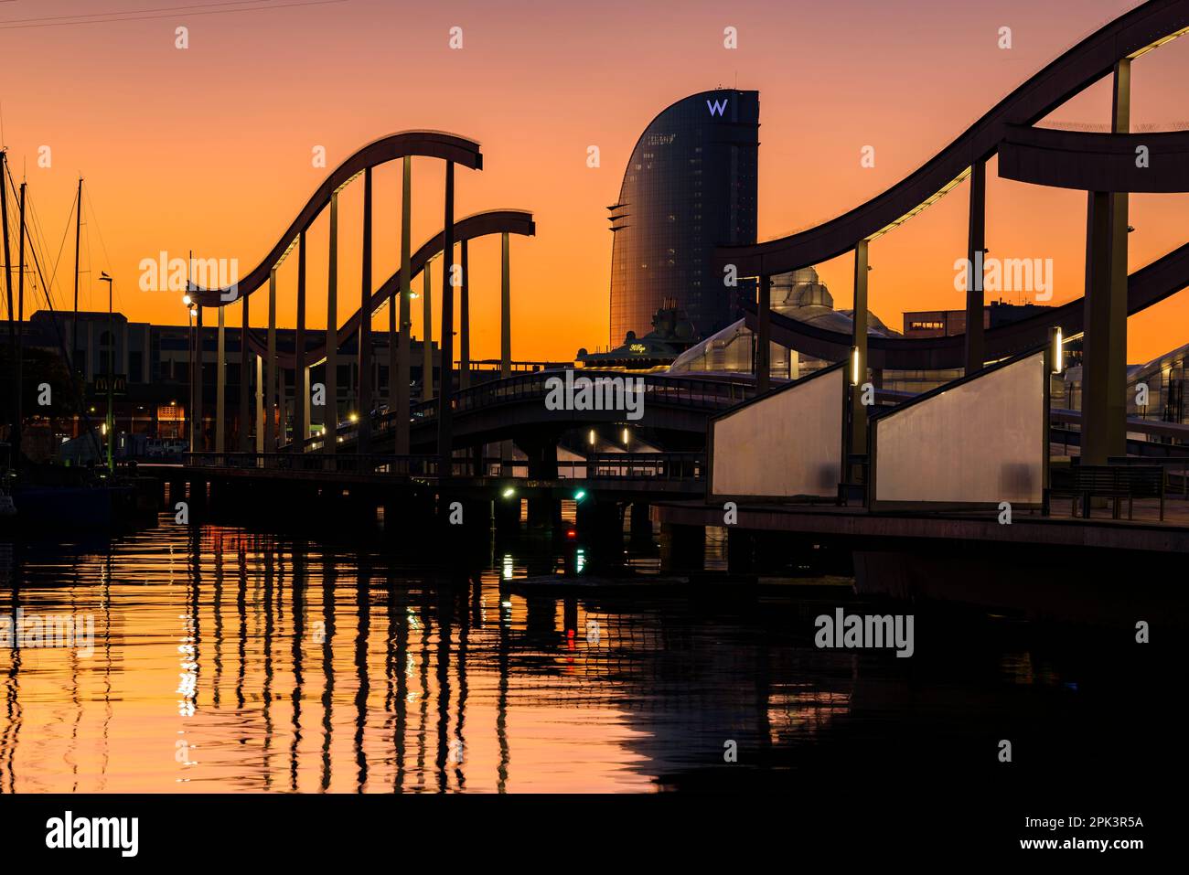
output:
[[[1044,353],[872,421],[875,503],[1039,505]]]

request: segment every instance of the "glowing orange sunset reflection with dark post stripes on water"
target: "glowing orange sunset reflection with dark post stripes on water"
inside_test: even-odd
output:
[[[0,613],[90,617],[94,653],[0,648],[2,792],[647,791],[766,723],[744,629],[501,593],[510,553],[452,581],[229,528],[5,548]]]

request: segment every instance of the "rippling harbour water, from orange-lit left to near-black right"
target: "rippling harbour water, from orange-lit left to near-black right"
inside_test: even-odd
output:
[[[1181,675],[1126,629],[872,606],[837,583],[502,586],[564,553],[492,547],[459,574],[221,527],[0,542],[0,615],[94,634],[93,653],[0,647],[0,792],[894,797],[1005,768],[1121,781],[1172,757]],[[836,605],[914,611],[913,657],[816,648]]]

